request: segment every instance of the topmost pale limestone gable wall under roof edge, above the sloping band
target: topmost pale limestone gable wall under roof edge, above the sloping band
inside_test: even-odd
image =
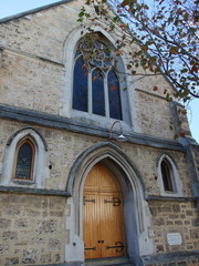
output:
[[[63,44],[69,32],[78,25],[81,4],[71,1],[1,23],[1,45],[62,63]]]

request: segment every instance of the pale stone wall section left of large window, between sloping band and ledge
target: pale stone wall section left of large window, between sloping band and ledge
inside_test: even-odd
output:
[[[63,72],[62,65],[7,50],[0,69],[0,103],[57,115]]]

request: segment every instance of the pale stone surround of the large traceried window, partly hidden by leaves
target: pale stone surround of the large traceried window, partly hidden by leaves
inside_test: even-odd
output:
[[[108,34],[104,30],[103,23],[92,23],[90,25],[92,30],[95,32],[102,33],[112,44],[115,47],[115,39],[113,35]],[[86,32],[84,32],[85,34]],[[91,113],[86,112],[81,112],[77,110],[72,110],[72,93],[73,93],[73,68],[74,68],[74,54],[75,50],[77,47],[78,41],[82,39],[82,27],[76,27],[71,31],[71,33],[66,37],[65,43],[64,43],[64,50],[63,50],[63,63],[65,65],[65,85],[63,86],[63,105],[60,111],[61,115],[67,116],[67,117],[77,117],[81,120],[92,120],[93,122],[96,121],[97,117],[97,123],[102,124],[103,126],[108,127],[113,124],[115,120],[104,117],[104,116],[96,116]],[[135,114],[133,113],[133,103],[128,100],[129,99],[129,90],[126,90],[126,88],[132,88],[132,80],[128,81],[128,75],[126,76],[124,73],[127,72],[127,61],[126,61],[127,55],[125,55],[125,51],[123,55],[119,55],[119,63],[118,63],[118,70],[119,70],[119,85],[121,85],[121,92],[122,92],[122,106],[123,106],[123,115],[125,117],[124,120],[124,125],[126,129],[130,129],[133,125],[133,115],[135,117]],[[134,98],[132,99],[134,101]],[[130,114],[130,115],[129,115]]]

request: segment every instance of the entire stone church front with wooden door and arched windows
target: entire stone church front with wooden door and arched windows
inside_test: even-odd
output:
[[[82,74],[82,4],[0,21],[0,265],[197,266],[199,146],[186,121],[179,127],[181,106],[165,100],[174,88],[124,75],[128,48],[114,69],[95,47]],[[115,44],[103,21],[91,27],[97,45]]]

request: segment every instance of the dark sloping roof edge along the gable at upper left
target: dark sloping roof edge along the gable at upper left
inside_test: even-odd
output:
[[[71,2],[71,1],[73,1],[73,0],[62,0],[62,1],[54,2],[54,3],[45,4],[45,6],[40,7],[40,8],[31,9],[31,10],[28,10],[28,11],[24,11],[24,12],[21,12],[21,13],[18,13],[18,14],[13,14],[13,16],[0,19],[0,24],[2,24],[4,22],[9,22],[11,20],[23,18],[23,17],[29,16],[29,14],[38,13],[38,12],[41,12],[43,10],[51,9],[51,8],[54,8],[56,6],[60,6],[60,4],[63,4],[63,3],[66,3],[66,2]]]

